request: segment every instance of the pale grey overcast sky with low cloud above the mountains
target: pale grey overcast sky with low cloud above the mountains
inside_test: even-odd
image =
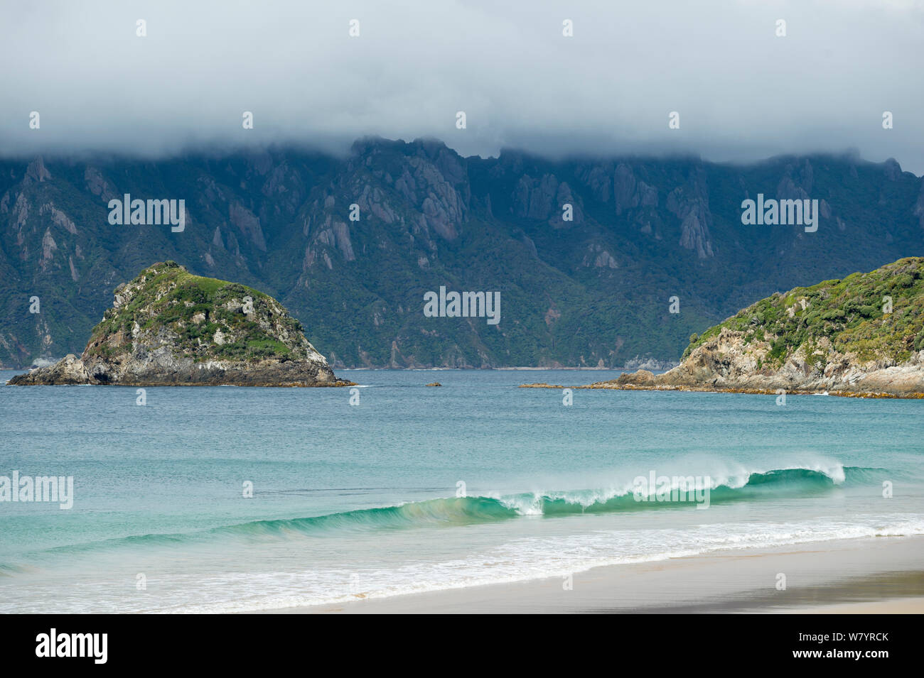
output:
[[[858,149],[924,173],[920,0],[3,0],[0,22],[6,155],[374,134],[483,156]]]

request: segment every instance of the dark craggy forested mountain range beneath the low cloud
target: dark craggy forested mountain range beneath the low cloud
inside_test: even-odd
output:
[[[183,230],[111,223],[126,194],[184,200]],[[758,194],[817,199],[817,232],[742,224]],[[79,352],[116,286],[167,259],[274,296],[334,367],[489,367],[676,361],[773,291],[922,254],[924,183],[856,155],[482,159],[370,137],[346,158],[37,156],[0,161],[0,363]],[[499,291],[500,322],[425,316],[441,286]]]

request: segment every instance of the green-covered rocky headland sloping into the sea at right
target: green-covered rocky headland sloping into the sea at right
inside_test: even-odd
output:
[[[662,375],[579,388],[924,398],[924,258],[775,293],[690,337]]]

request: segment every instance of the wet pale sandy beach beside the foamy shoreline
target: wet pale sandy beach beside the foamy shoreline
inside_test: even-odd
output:
[[[270,612],[921,613],[922,563],[924,537],[825,541],[596,567],[570,590],[551,577]]]

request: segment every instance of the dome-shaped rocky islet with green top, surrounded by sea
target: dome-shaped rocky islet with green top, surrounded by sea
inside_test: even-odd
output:
[[[349,386],[273,297],[194,276],[173,261],[116,288],[78,358],[14,376],[10,385]]]

